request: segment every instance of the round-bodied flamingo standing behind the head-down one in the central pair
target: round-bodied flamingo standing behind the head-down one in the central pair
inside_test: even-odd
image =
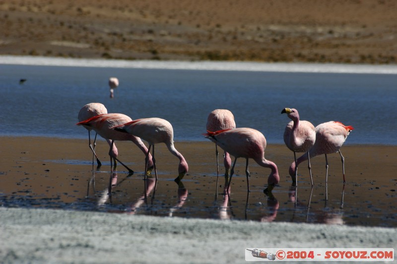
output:
[[[236,128],[234,121],[234,115],[231,111],[226,109],[215,109],[209,113],[207,118],[207,131],[219,131],[228,128]],[[216,175],[219,175],[218,166],[218,145],[215,144],[215,155],[216,155]],[[232,159],[229,153],[224,152],[223,164],[225,165],[225,176],[229,176],[230,166]]]

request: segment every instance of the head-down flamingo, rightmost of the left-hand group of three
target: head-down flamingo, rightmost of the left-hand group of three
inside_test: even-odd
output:
[[[188,163],[186,162],[182,154],[180,154],[174,147],[174,130],[170,122],[168,122],[167,120],[157,117],[136,119],[130,122],[126,122],[124,124],[115,125],[114,129],[116,131],[127,132],[128,134],[140,137],[141,139],[147,141],[149,143],[149,149],[146,152],[147,155],[150,155],[150,148],[153,147],[152,159],[156,179],[157,170],[156,160],[154,158],[154,144],[157,143],[164,143],[167,146],[168,150],[171,152],[171,154],[179,158],[179,175],[175,179],[177,183],[182,180],[182,178],[188,172]]]

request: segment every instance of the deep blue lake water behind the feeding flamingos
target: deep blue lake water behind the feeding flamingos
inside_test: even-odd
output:
[[[107,80],[120,86],[109,98]],[[27,81],[20,85],[19,79]],[[346,144],[396,145],[396,74],[296,73],[29,66],[0,64],[1,135],[85,138],[75,126],[91,102],[132,119],[162,117],[175,140],[205,140],[208,113],[230,109],[240,127],[283,143],[284,107],[314,125],[335,120],[355,130]],[[353,136],[354,135],[354,136]]]

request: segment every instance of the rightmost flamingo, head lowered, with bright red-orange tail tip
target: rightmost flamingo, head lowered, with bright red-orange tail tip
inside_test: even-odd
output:
[[[342,147],[350,131],[353,129],[354,128],[352,126],[345,126],[342,123],[336,121],[330,121],[316,126],[316,142],[308,153],[311,158],[323,154],[326,156],[326,182],[328,182],[327,154],[336,152],[339,152],[340,158],[342,159],[343,183],[346,182],[344,176],[344,157],[340,152],[340,147]],[[295,171],[295,167],[309,158],[308,153],[298,158],[296,163],[292,162],[291,166],[289,167],[289,175],[291,175],[291,177]]]

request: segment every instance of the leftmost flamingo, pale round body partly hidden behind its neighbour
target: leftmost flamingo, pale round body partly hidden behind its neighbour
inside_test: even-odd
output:
[[[104,105],[102,105],[101,103],[89,103],[89,104],[81,107],[80,111],[78,112],[77,118],[78,118],[78,121],[81,122],[88,118],[94,117],[95,115],[103,114],[103,113],[108,113],[108,110],[106,109],[106,107]],[[96,156],[96,153],[95,153],[97,133],[95,133],[94,148],[92,148],[92,145],[91,145],[91,130],[92,130],[92,128],[89,126],[86,126],[86,125],[83,125],[83,127],[85,127],[88,130],[88,147],[90,147],[92,154],[93,154],[92,163],[94,163],[94,156],[95,156],[98,166],[101,166],[102,163],[99,160],[99,158]]]

